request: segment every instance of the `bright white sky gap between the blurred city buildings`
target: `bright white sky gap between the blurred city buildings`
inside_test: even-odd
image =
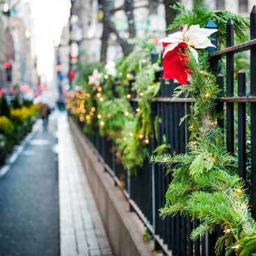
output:
[[[54,41],[58,43],[70,15],[70,0],[23,0],[31,3],[34,51],[47,81],[52,79]]]

